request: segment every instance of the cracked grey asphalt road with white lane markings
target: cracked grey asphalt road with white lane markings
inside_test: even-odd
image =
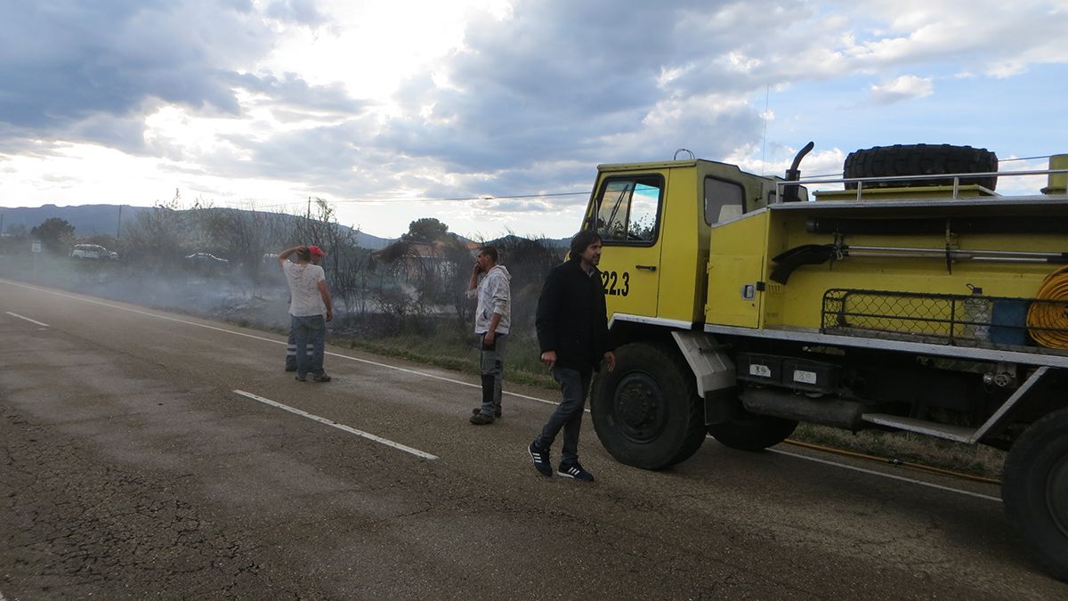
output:
[[[551,391],[474,427],[475,374],[299,383],[279,336],[10,280],[0,341],[7,601],[1068,597],[987,484],[713,441],[643,472],[588,420],[597,482],[545,479]]]

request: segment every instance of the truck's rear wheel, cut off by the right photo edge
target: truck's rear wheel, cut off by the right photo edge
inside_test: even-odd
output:
[[[1035,559],[1068,582],[1068,409],[1033,423],[1005,460],[1002,499]]]

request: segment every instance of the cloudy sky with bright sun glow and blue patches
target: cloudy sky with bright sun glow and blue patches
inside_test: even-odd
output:
[[[0,206],[300,212],[560,237],[599,163],[804,175],[893,143],[1068,152],[1068,2],[0,2]],[[1002,179],[1000,191],[1045,181]]]

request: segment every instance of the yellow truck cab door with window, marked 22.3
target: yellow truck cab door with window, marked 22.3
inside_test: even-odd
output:
[[[603,241],[599,268],[614,313],[656,317],[660,283],[662,173],[612,175],[601,180],[591,220]]]

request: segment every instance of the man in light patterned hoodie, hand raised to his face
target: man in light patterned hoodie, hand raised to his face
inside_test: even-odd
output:
[[[501,370],[504,346],[512,322],[512,274],[498,264],[497,248],[478,249],[468,298],[477,298],[474,313],[474,333],[478,336],[482,370],[482,405],[472,411],[471,423],[484,426],[501,417]]]

